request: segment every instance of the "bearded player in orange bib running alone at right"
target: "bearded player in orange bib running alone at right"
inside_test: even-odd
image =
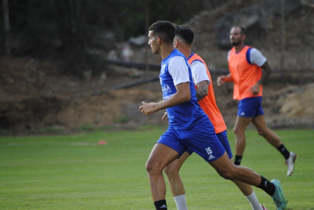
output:
[[[280,141],[278,135],[266,125],[262,108],[263,82],[270,76],[271,67],[266,58],[255,48],[244,45],[246,30],[235,26],[230,31],[230,41],[234,46],[228,53],[230,73],[217,78],[218,86],[225,82],[233,82],[233,99],[239,100],[235,127],[236,158],[240,165],[246,145],[245,130],[253,123],[259,135],[263,136],[284,156],[288,166],[287,176],[294,170],[297,155],[289,152]]]

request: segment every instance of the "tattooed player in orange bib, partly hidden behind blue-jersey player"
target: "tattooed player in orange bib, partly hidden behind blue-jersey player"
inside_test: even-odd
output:
[[[232,161],[232,153],[227,138],[227,127],[225,121],[216,105],[213,85],[211,84],[211,76],[203,59],[195,53],[192,53],[191,47],[194,39],[193,31],[187,26],[175,26],[176,36],[174,38],[174,46],[187,57],[192,71],[192,78],[196,88],[196,98],[200,107],[213,123],[215,132],[220,143],[225,148],[230,161]],[[163,119],[165,119],[166,113]],[[164,172],[167,175],[172,195],[175,199],[178,210],[187,210],[185,199],[185,189],[179,175],[180,168],[185,160],[190,157],[193,151],[188,148],[179,159],[165,167]],[[251,185],[240,181],[232,180],[245,195],[250,202],[253,210],[265,210],[252,189]]]

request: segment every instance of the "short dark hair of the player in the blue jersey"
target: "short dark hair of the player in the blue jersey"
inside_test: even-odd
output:
[[[149,30],[154,31],[154,35],[156,37],[160,37],[168,44],[172,44],[173,39],[175,38],[175,28],[173,27],[173,24],[169,21],[157,21],[149,27]]]

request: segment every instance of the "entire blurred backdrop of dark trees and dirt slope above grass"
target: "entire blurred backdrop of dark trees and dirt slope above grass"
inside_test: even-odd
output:
[[[148,27],[158,20],[194,31],[192,50],[208,65],[229,128],[237,102],[232,84],[217,87],[216,78],[228,72],[232,25],[247,29],[246,44],[258,48],[273,67],[263,91],[268,125],[313,128],[314,0],[284,0],[283,31],[281,3],[1,0],[0,133],[166,126],[162,111],[149,117],[138,111],[142,101],[162,99],[161,59],[147,44]]]

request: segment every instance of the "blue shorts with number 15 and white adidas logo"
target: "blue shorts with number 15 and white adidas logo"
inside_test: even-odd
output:
[[[208,118],[186,130],[177,130],[169,126],[157,143],[176,150],[179,157],[190,148],[207,162],[219,159],[225,153],[225,148],[219,142],[213,124]]]

